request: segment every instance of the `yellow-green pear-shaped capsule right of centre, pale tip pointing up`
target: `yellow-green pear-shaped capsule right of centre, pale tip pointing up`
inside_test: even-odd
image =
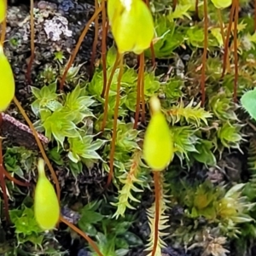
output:
[[[174,155],[172,134],[156,96],[150,99],[150,107],[152,116],[145,132],[143,157],[153,171],[163,171]]]

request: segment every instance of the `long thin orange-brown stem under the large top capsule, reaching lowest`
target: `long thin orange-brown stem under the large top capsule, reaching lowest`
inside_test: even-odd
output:
[[[117,137],[117,124],[118,124],[118,117],[119,117],[119,102],[120,102],[120,88],[121,88],[121,79],[123,75],[123,59],[124,55],[120,55],[120,65],[119,65],[119,77],[118,77],[118,84],[116,90],[116,99],[115,99],[115,106],[114,106],[114,115],[113,115],[113,136],[111,141],[111,149],[110,149],[110,160],[109,160],[109,173],[108,173],[108,181],[106,187],[108,188],[111,180],[113,178],[113,161],[114,161],[114,151],[115,151],[115,141]]]

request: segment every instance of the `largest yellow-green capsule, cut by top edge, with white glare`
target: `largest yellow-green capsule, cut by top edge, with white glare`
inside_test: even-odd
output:
[[[120,54],[141,54],[154,38],[154,21],[143,0],[108,0],[108,19]]]

